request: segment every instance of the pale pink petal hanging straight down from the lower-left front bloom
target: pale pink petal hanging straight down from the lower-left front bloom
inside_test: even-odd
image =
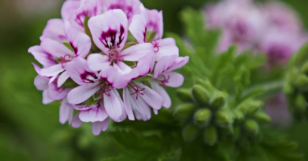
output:
[[[120,103],[120,101],[122,100],[119,100],[116,93],[118,93],[118,91],[116,91],[115,89],[111,89],[111,91],[104,94],[105,110],[109,115],[109,117],[112,118],[113,120],[119,120],[120,117],[122,116],[122,113],[124,112],[122,110],[122,105]],[[107,94],[110,96],[108,96]]]

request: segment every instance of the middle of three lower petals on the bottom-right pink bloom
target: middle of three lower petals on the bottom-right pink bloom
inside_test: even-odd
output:
[[[135,93],[135,90],[133,90],[131,87],[128,87],[125,91],[126,98],[128,98],[126,105],[132,107],[137,120],[149,120],[151,118],[151,109],[149,105],[141,97],[136,99],[136,95],[131,95],[132,93]]]

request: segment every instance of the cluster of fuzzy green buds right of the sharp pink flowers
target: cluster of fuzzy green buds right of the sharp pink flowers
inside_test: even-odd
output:
[[[191,89],[178,89],[176,94],[183,103],[174,109],[173,116],[184,123],[182,135],[188,142],[199,135],[208,146],[226,136],[237,141],[244,134],[257,136],[261,126],[271,122],[262,111],[262,101],[247,99],[232,105],[229,95],[208,80],[199,79]]]

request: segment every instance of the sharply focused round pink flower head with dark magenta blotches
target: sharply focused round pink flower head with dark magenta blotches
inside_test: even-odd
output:
[[[43,65],[33,64],[34,85],[44,104],[61,101],[61,123],[91,122],[98,135],[109,118],[146,121],[151,108],[158,114],[171,106],[165,88],[183,84],[173,70],[189,57],[179,57],[174,39],[162,39],[162,11],[139,0],[67,0],[61,15],[48,21],[41,44],[29,48]]]

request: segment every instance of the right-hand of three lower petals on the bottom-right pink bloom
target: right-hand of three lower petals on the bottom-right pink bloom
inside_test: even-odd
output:
[[[133,82],[136,84],[140,89],[145,89],[142,91],[144,95],[140,94],[140,97],[153,109],[161,109],[161,107],[164,104],[164,99],[161,97],[157,92],[155,92],[153,89],[149,88],[148,86],[138,83],[138,82]]]

